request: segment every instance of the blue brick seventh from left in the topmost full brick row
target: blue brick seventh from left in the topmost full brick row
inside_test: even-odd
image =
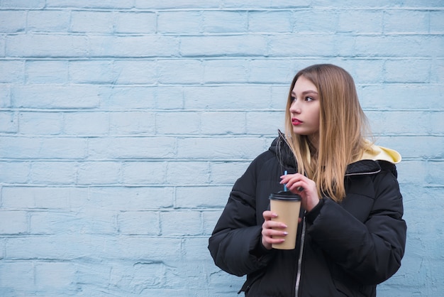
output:
[[[293,31],[294,19],[292,11],[251,11],[248,13],[248,31],[289,33]]]

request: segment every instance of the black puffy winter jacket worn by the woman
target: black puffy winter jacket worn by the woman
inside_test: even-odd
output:
[[[215,264],[247,275],[245,296],[376,296],[376,285],[399,269],[406,242],[394,164],[350,164],[344,200],[323,198],[311,212],[301,210],[296,248],[268,251],[262,212],[270,209],[270,193],[282,190],[285,170],[295,173],[296,163],[281,137],[233,186],[209,239]]]

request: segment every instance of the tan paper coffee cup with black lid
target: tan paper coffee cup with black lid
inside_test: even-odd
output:
[[[272,221],[282,222],[287,225],[286,236],[273,236],[283,238],[284,242],[272,244],[274,249],[294,249],[296,246],[296,234],[301,209],[301,196],[290,191],[281,191],[270,195],[270,210],[277,214]]]

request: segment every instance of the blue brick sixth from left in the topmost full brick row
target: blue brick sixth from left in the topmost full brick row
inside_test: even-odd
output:
[[[204,11],[202,31],[204,33],[244,33],[248,30],[246,11]]]

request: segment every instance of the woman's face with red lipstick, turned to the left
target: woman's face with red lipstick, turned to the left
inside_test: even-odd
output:
[[[319,95],[313,82],[300,76],[292,90],[292,105],[289,110],[295,134],[309,136],[317,144],[319,134]]]

